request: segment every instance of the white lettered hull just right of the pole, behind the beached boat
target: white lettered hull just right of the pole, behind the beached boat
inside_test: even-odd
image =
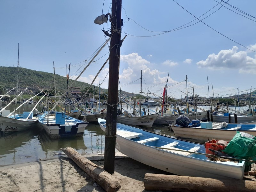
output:
[[[159,114],[145,115],[145,116],[117,116],[117,122],[123,124],[130,124],[143,127],[152,127],[153,123],[159,117]]]

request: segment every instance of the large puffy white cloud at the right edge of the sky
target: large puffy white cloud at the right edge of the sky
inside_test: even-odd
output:
[[[199,68],[212,70],[238,69],[239,73],[256,74],[256,59],[247,55],[245,51],[237,52],[238,47],[234,46],[229,50],[221,50],[217,55],[210,54],[206,60],[196,64]]]

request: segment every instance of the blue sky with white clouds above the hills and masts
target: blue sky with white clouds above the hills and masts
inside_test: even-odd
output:
[[[56,74],[66,76],[71,63],[75,79],[105,42],[101,29],[108,30],[110,22],[97,25],[94,19],[111,13],[111,2],[0,1],[0,66],[17,65],[19,43],[22,68],[53,73],[54,61]],[[121,89],[138,93],[141,70],[143,92],[161,95],[169,73],[168,95],[175,98],[185,95],[186,75],[188,94],[194,85],[195,94],[204,97],[256,88],[256,1],[229,0],[224,6],[220,0],[176,2],[180,5],[123,0],[121,38],[127,37],[121,47]],[[108,54],[106,46],[78,80],[91,83]],[[105,79],[102,87],[108,88],[107,74],[108,64],[94,85]]]

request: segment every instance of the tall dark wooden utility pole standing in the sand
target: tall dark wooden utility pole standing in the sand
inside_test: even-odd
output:
[[[119,58],[121,46],[122,0],[112,0],[111,40],[109,53],[108,105],[105,134],[104,170],[115,172],[116,121],[118,102]]]

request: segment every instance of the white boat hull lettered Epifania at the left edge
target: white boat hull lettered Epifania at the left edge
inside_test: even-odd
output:
[[[32,128],[37,123],[37,118],[25,120],[0,116],[0,131],[3,131],[4,133],[24,131]]]

